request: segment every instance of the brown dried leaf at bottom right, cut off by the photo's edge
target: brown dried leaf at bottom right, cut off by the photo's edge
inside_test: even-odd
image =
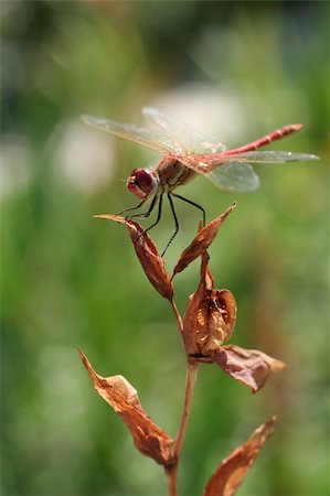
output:
[[[259,454],[263,444],[272,436],[276,417],[258,427],[246,443],[236,448],[225,459],[209,481],[203,496],[233,496]]]

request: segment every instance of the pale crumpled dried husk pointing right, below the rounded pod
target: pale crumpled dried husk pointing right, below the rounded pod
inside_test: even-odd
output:
[[[222,346],[215,362],[234,379],[257,392],[267,381],[270,373],[286,368],[284,362],[272,358],[258,349],[244,349],[236,345]]]

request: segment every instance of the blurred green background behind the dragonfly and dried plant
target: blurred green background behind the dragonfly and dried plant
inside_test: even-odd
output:
[[[174,436],[185,366],[173,315],[126,229],[92,219],[134,205],[124,181],[158,155],[78,119],[141,125],[140,108],[153,105],[232,147],[304,122],[273,149],[321,157],[257,166],[254,194],[202,177],[182,188],[209,219],[237,200],[210,250],[217,288],[238,304],[231,341],[289,368],[256,396],[216,366],[202,368],[180,485],[201,495],[221,460],[276,413],[276,433],[238,494],[326,495],[327,3],[2,1],[1,20],[1,494],[166,494],[161,467],[132,448],[76,353],[104,376],[125,375]],[[173,229],[164,211],[152,231],[160,249]],[[189,205],[178,215],[169,270],[199,222]],[[181,311],[198,272],[194,262],[177,278]]]

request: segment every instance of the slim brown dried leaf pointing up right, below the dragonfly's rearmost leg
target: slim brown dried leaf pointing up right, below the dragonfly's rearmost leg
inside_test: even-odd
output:
[[[185,267],[189,266],[189,263],[191,263],[200,255],[206,251],[206,249],[215,238],[220,226],[223,224],[228,214],[235,208],[235,206],[236,202],[232,206],[230,206],[222,215],[211,220],[211,223],[206,224],[206,226],[200,229],[193,241],[181,254],[180,259],[174,267],[172,279],[175,273],[181,272],[183,269],[185,269]]]

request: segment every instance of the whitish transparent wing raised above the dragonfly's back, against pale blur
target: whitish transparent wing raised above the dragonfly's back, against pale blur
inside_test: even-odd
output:
[[[187,123],[156,108],[143,107],[142,114],[175,143],[178,154],[221,153],[225,150],[222,143],[203,137]]]

